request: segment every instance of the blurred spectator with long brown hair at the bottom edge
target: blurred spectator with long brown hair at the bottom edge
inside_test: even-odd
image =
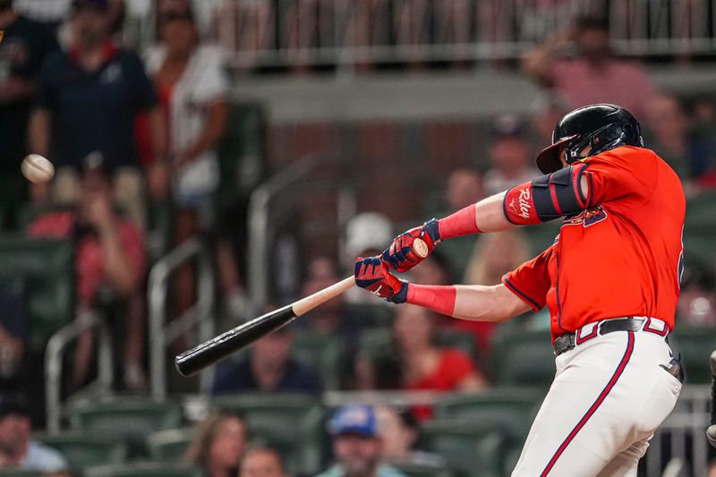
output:
[[[200,467],[207,477],[236,477],[247,442],[243,416],[218,410],[200,423],[199,433],[186,450],[184,460]]]

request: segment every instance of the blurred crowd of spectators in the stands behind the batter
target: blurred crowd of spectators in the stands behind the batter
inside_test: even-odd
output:
[[[216,253],[221,310],[234,321],[246,318],[245,270],[236,258],[243,251],[237,250],[235,237],[221,234],[222,221],[232,218],[216,208],[221,180],[217,144],[227,128],[232,83],[222,52],[200,39],[191,0],[157,0],[157,42],[141,52],[121,43],[122,0],[65,4],[67,17],[42,23],[17,13],[12,0],[0,0],[0,218],[7,233],[72,241],[76,315],[90,309],[107,312],[116,330],[116,360],[123,363],[116,388],[144,394],[147,272],[171,245],[194,234],[208,235]],[[531,117],[492,118],[486,148],[490,166],[477,170],[465,158],[464,167],[439,181],[442,197],[433,196],[423,210],[440,217],[539,175],[533,157],[550,143],[558,118],[592,102],[614,102],[632,111],[644,126],[647,147],[678,172],[689,198],[716,187],[713,98],[659,91],[642,64],[612,55],[603,17],[580,18],[575,27],[524,56],[524,74],[550,92],[549,100]],[[567,50],[570,54],[564,55]],[[21,177],[20,163],[29,152],[52,159],[52,183],[29,184]],[[163,206],[172,210],[173,229],[170,244],[161,247],[150,238],[155,213]],[[385,212],[364,212],[351,220],[344,256],[303,257],[300,294],[337,282],[355,257],[382,251],[398,232]],[[495,285],[534,252],[522,230],[479,240],[461,237],[441,244],[410,279]],[[175,316],[195,301],[195,274],[185,267],[175,276],[170,292]],[[686,263],[678,305],[681,326],[716,326],[715,282],[713,263]],[[265,311],[283,304],[275,302]],[[9,371],[0,367],[4,387],[27,391],[21,382],[28,330],[21,295],[0,287],[0,308],[6,311],[0,318],[2,359],[14,363]],[[517,321],[515,326],[549,328],[545,312]],[[485,363],[495,331],[492,324],[449,319],[410,305],[384,306],[352,290],[220,365],[212,394],[317,396],[333,386],[480,391],[492,382]],[[470,336],[473,352],[471,346],[440,345],[445,332]],[[337,385],[322,382],[319,371],[295,355],[294,339],[305,334],[341,342]],[[374,353],[359,346],[359,336],[366,334],[382,339]],[[90,333],[80,337],[68,364],[68,391],[96,372],[94,340]],[[62,458],[30,439],[29,417],[37,413],[8,399],[0,400],[0,467],[40,461],[43,470],[62,471]],[[379,464],[382,457],[439,460],[413,449],[419,423],[431,416],[430,406],[401,412],[362,405],[339,409],[329,429],[342,466],[322,475],[338,477],[350,469],[355,475],[397,477],[395,469]],[[384,446],[379,445],[382,433],[391,433]],[[201,424],[186,458],[212,477],[286,475],[276,449],[249,446],[249,440],[240,414],[219,412]]]

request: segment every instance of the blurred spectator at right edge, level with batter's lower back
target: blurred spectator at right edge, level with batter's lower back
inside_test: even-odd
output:
[[[716,327],[716,294],[712,270],[699,265],[686,265],[681,276],[677,317],[681,326]]]

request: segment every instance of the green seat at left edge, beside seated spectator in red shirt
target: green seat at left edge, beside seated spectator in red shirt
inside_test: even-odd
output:
[[[0,236],[0,283],[21,280],[27,296],[28,343],[42,351],[55,331],[74,317],[74,251],[66,240]]]

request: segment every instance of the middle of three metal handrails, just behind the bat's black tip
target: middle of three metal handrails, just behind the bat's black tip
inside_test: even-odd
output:
[[[197,258],[197,301],[174,322],[165,325],[166,297],[171,273],[184,263]],[[215,334],[214,272],[209,250],[198,237],[192,237],[158,260],[149,271],[149,382],[151,396],[166,399],[166,346],[183,331],[199,324],[199,339],[205,341]],[[200,374],[200,389],[208,390],[213,379],[212,369]]]

